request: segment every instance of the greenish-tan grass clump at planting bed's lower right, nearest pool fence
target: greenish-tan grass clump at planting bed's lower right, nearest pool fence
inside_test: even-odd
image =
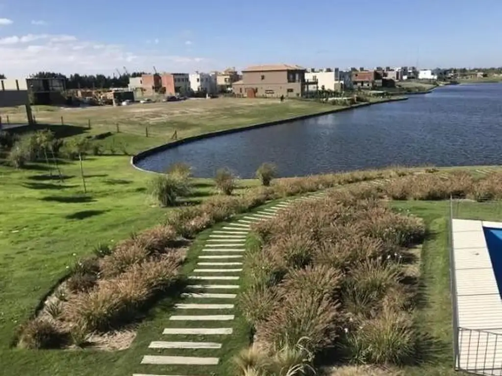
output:
[[[386,309],[361,322],[342,342],[347,358],[362,364],[406,364],[415,355],[416,332],[405,312]]]

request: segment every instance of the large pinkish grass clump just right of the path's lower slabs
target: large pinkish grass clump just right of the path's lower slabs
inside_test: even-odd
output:
[[[294,346],[308,336],[312,339],[308,349],[315,352],[336,337],[338,307],[327,296],[291,291],[266,320],[257,324],[257,340],[269,346]]]

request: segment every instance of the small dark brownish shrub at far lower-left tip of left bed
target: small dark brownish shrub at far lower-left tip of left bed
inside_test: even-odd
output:
[[[36,318],[21,328],[19,346],[22,348],[57,348],[63,342],[63,334],[51,321]]]

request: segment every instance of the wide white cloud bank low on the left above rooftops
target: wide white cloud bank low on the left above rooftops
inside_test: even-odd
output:
[[[0,39],[0,56],[2,73],[8,77],[23,77],[39,71],[112,74],[124,65],[131,72],[149,72],[153,65],[159,70],[187,73],[215,68],[210,59],[203,57],[166,56],[160,51],[144,49],[131,51],[119,45],[79,40],[72,35],[5,37]]]

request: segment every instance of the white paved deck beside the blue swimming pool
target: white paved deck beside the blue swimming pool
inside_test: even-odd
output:
[[[483,227],[502,229],[502,222],[454,219],[452,223],[457,317],[462,328],[458,366],[502,376],[502,299]]]

